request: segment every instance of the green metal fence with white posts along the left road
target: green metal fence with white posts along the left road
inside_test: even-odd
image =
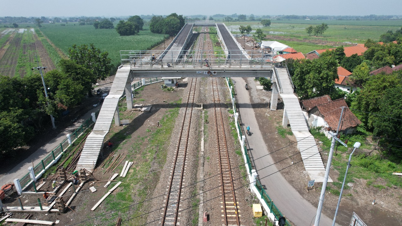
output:
[[[99,115],[99,111],[95,112],[95,117],[97,118]],[[78,127],[74,132],[71,134],[71,142],[74,142],[77,140],[77,138],[84,133],[88,127],[90,127],[94,122],[92,121],[92,116],[89,117]],[[55,149],[53,149],[45,158],[43,158],[36,166],[33,167],[33,171],[35,172],[35,176],[37,176],[41,171],[45,169],[46,166],[48,166],[53,160],[59,156],[62,152],[66,151],[66,149],[70,146],[68,143],[68,139],[63,140]],[[29,178],[29,180],[27,179]],[[29,177],[29,173],[25,175],[23,178],[20,179],[21,187],[25,187],[27,184],[29,184],[32,181],[31,177]]]

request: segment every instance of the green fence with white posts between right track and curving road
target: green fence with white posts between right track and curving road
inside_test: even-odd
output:
[[[230,78],[226,78],[226,81],[227,81],[227,84],[230,85]],[[232,99],[234,98],[233,91],[230,93],[230,96],[232,97]],[[234,112],[234,114],[236,114],[236,112],[237,112],[236,107],[234,105],[233,105],[233,112]],[[237,129],[239,131],[240,137],[242,137],[243,134],[242,134],[242,129],[240,127],[239,121],[237,121],[236,126],[237,126]],[[244,155],[246,156],[245,162],[246,162],[247,167],[248,167],[248,172],[251,173],[251,170],[252,170],[251,160],[250,160],[250,156],[248,156],[248,153],[247,153],[246,144],[243,144],[243,150],[244,150]],[[255,187],[258,190],[258,192],[260,193],[261,199],[263,199],[265,201],[265,203],[267,204],[270,212],[275,215],[275,218],[277,220],[279,220],[279,217],[283,216],[283,215],[282,215],[281,211],[279,211],[279,209],[277,208],[275,203],[272,201],[272,199],[269,197],[269,195],[267,194],[267,192],[265,191],[264,187],[261,185],[259,180],[256,180]],[[291,226],[290,223],[287,220],[286,220],[286,226]]]

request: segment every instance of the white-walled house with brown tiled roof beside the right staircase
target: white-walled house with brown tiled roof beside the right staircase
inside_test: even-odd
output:
[[[313,106],[315,105],[315,106]],[[330,127],[336,130],[341,113],[341,107],[345,107],[342,115],[340,131],[344,134],[353,134],[361,123],[348,108],[345,99],[331,101],[328,95],[301,101],[304,117],[310,127]]]

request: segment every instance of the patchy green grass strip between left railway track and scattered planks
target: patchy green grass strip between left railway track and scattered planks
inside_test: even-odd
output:
[[[139,136],[135,140],[129,140],[131,136],[119,136],[119,139],[124,139],[125,142],[132,142],[133,144],[128,149],[130,154],[130,161],[135,162],[135,167],[131,168],[127,180],[123,181],[120,185],[119,192],[115,195],[110,195],[105,201],[106,211],[125,208],[132,204],[135,199],[136,202],[144,201],[148,193],[152,193],[154,183],[150,180],[158,177],[156,172],[150,173],[151,163],[154,162],[158,166],[163,167],[166,162],[166,150],[169,145],[166,140],[170,140],[174,122],[180,110],[181,99],[174,102],[174,108],[166,111],[166,114],[160,120],[162,127],[158,127],[149,136]],[[113,135],[117,137],[119,133]],[[148,145],[142,150],[140,147],[144,143]],[[121,143],[123,144],[123,143]],[[122,146],[122,145],[119,146]],[[120,148],[120,147],[119,147]],[[122,168],[119,166],[118,168]],[[147,183],[148,182],[148,183]],[[115,212],[109,219],[104,219],[105,223],[115,223],[115,218],[118,215],[133,218],[145,214],[146,210],[143,208],[143,203],[137,204],[134,207],[125,208],[119,212]],[[141,225],[145,223],[144,218],[134,218],[130,221],[131,225]]]

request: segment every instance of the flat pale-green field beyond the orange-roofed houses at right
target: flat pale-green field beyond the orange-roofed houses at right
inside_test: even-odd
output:
[[[243,22],[225,22],[229,30],[233,28],[233,33],[239,33],[240,25],[250,25],[254,32],[260,28],[267,35],[275,35],[277,39],[286,45],[289,45],[301,51],[308,53],[314,49],[325,49],[333,47],[326,45],[326,42],[335,42],[341,45],[343,42],[365,43],[367,39],[379,40],[380,35],[388,30],[396,31],[402,27],[401,20],[384,20],[384,21],[337,21],[337,20],[271,20],[270,27],[263,27],[260,21],[243,21]],[[306,27],[319,25],[321,23],[328,24],[328,30],[322,37],[309,36],[306,33]],[[291,39],[291,40],[288,40]],[[271,40],[271,39],[270,39]],[[286,40],[286,41],[284,41]]]

